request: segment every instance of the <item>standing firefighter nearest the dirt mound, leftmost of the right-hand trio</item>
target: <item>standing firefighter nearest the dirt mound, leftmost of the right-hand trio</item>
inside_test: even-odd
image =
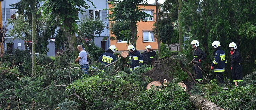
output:
[[[191,42],[192,47],[194,49],[193,61],[194,62],[194,72],[196,74],[196,81],[203,80],[202,76],[202,60],[206,58],[206,54],[199,48],[199,42],[197,40],[193,40]]]

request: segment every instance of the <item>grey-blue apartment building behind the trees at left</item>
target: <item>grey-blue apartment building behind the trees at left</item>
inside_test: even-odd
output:
[[[1,25],[7,25],[8,20],[7,19],[13,19],[15,20],[18,17],[18,14],[16,13],[18,9],[15,9],[14,7],[10,7],[9,4],[14,4],[19,2],[20,0],[0,0],[1,3],[1,8],[0,8],[0,23]],[[90,0],[94,3],[95,7],[92,6],[91,3],[88,2],[88,4],[90,5],[89,9],[81,9],[83,11],[86,11],[85,13],[78,13],[78,17],[80,18],[80,20],[77,21],[77,23],[79,23],[81,21],[82,18],[84,17],[89,17],[92,19],[100,19],[103,21],[103,23],[105,25],[108,24],[108,19],[107,19],[107,14],[108,11],[107,10],[103,10],[103,9],[107,9],[108,8],[108,0]],[[12,29],[13,26],[9,25],[7,26],[7,32],[6,34],[8,34],[8,29]],[[108,40],[103,40],[104,37],[109,37],[109,31],[107,28],[104,28],[103,32],[100,34],[100,36],[96,37],[94,39],[94,43],[95,45],[103,48],[104,50],[107,50],[109,47],[109,42]],[[5,36],[6,42],[3,46],[4,50],[12,50],[15,48],[18,48],[20,50],[28,50],[28,52],[30,52],[32,50],[32,42],[31,41],[24,41],[21,39],[13,39],[13,36]],[[55,48],[55,37],[53,36],[51,39],[48,40],[49,44],[47,45],[49,51],[47,52],[48,56],[55,56],[57,51],[61,51],[58,50],[57,48]]]

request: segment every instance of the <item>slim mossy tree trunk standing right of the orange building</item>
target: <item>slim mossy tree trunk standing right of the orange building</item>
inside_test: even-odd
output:
[[[178,7],[178,24],[179,24],[179,52],[183,52],[183,36],[182,36],[182,25],[181,25],[181,18],[180,18],[180,12],[182,10],[182,0],[179,1],[179,7]]]

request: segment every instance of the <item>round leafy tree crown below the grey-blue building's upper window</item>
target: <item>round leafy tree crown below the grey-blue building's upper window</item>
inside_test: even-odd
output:
[[[105,26],[101,20],[90,20],[89,18],[83,18],[80,22],[79,30],[81,37],[84,39],[92,39],[94,41],[95,37],[99,37]],[[97,36],[98,35],[98,36]]]

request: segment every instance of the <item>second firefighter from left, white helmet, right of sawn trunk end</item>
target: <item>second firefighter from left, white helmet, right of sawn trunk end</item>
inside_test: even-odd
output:
[[[130,63],[130,70],[137,69],[139,66],[143,65],[143,58],[140,52],[137,51],[132,44],[128,46],[127,50],[129,50],[129,59],[127,63]]]

